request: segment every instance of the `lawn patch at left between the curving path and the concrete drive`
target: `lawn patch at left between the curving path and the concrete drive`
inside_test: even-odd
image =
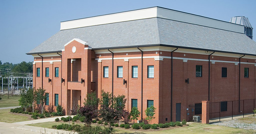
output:
[[[0,122],[22,122],[22,121],[28,121],[28,117],[26,116],[20,116],[20,115],[13,115],[9,114],[10,109],[0,109]]]

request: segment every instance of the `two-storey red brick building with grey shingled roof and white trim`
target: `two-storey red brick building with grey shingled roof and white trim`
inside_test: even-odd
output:
[[[126,109],[138,107],[139,119],[153,105],[154,123],[188,120],[191,104],[190,114],[200,115],[208,100],[224,101],[221,116],[231,115],[225,101],[256,98],[252,27],[231,22],[161,7],[61,22],[58,33],[27,53],[34,56],[33,87],[49,92],[47,110],[60,104],[65,114],[87,93],[101,98],[104,90],[125,95]]]

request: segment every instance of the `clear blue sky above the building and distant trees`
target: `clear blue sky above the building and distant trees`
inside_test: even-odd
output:
[[[256,0],[0,0],[0,60],[33,61],[25,53],[57,33],[61,21],[153,6],[223,21],[245,16],[256,27]],[[255,41],[256,31],[253,31]]]

